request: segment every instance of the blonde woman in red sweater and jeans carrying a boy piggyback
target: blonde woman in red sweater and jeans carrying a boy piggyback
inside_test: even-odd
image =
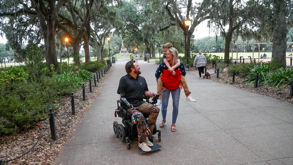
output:
[[[174,66],[177,64],[177,58],[178,58],[178,51],[175,48],[169,48],[166,53],[167,60],[170,64],[170,66]],[[180,90],[182,89],[182,84],[180,84],[181,75],[185,76],[186,71],[183,62],[180,62],[180,66],[176,68],[174,71],[169,72],[168,67],[165,65],[164,62],[162,62],[156,71],[156,79],[159,78],[159,76],[162,74],[162,81],[164,83],[164,86],[162,87],[162,122],[160,124],[160,127],[164,127],[166,123],[166,115],[167,115],[167,107],[168,107],[168,101],[170,97],[170,93],[172,95],[173,100],[173,112],[172,112],[172,125],[171,125],[171,131],[176,131],[176,120],[179,112],[179,98],[180,98]]]

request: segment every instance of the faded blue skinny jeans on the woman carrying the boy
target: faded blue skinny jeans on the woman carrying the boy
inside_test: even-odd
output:
[[[165,91],[162,91],[162,116],[163,120],[166,120],[167,115],[167,107],[168,107],[168,101],[170,97],[170,93],[172,95],[173,100],[173,112],[172,112],[172,123],[176,123],[177,116],[178,116],[178,107],[179,107],[179,99],[180,99],[180,88],[177,88],[176,90],[169,90],[166,88]]]

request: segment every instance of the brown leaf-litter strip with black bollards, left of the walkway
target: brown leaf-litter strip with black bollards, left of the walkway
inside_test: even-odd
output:
[[[106,73],[106,77],[108,73]],[[56,141],[51,140],[49,119],[40,122],[34,129],[2,137],[0,139],[0,158],[2,161],[21,156],[4,164],[52,164],[67,139],[71,138],[75,125],[89,110],[92,102],[100,96],[104,81],[105,77],[99,80],[97,87],[92,81],[92,93],[89,92],[89,83],[86,84],[86,101],[82,101],[82,90],[74,94],[75,115],[71,115],[71,98],[66,97],[60,100],[61,108],[54,110],[56,115],[62,115],[55,116],[58,138]],[[23,155],[24,153],[25,155]]]

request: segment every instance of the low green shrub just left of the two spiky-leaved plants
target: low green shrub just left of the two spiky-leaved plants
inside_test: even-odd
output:
[[[257,65],[257,64],[255,64],[255,63],[244,63],[244,64],[238,64],[238,65],[229,65],[228,73],[230,75],[232,75],[233,69],[235,69],[235,73],[237,75],[240,75],[241,77],[245,77],[250,72],[251,68],[254,68],[255,65]]]

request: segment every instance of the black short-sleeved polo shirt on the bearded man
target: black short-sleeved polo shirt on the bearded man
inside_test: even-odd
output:
[[[127,74],[121,77],[117,93],[124,95],[133,107],[143,104],[144,91],[148,91],[146,79],[142,76],[137,76],[134,79],[131,75]]]

